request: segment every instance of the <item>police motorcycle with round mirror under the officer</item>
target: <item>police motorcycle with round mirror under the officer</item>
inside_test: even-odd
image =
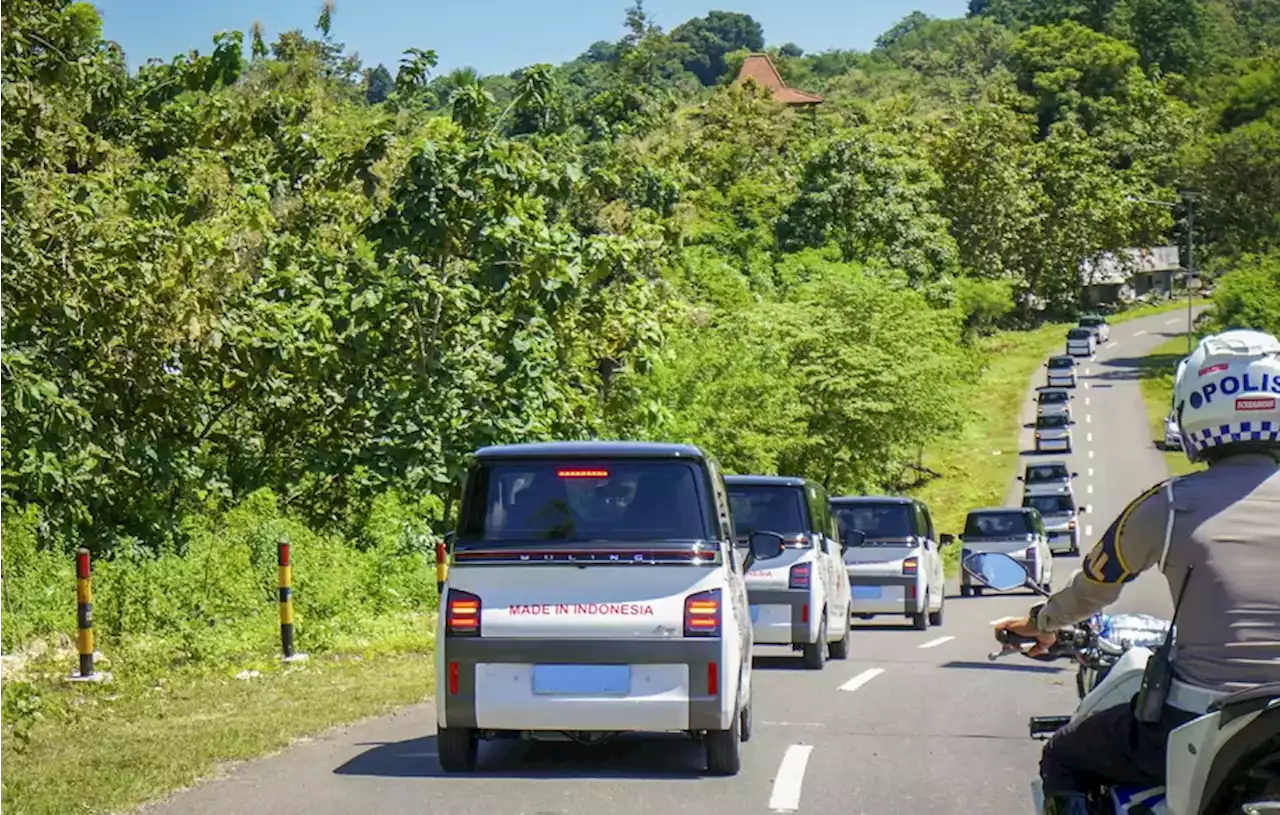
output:
[[[974,553],[961,568],[996,591],[1020,587],[1047,595],[1018,560],[1001,553]],[[1146,614],[1094,617],[1057,632],[1042,661],[1076,663],[1079,705],[1069,716],[1032,716],[1032,738],[1048,738],[1070,722],[1129,704],[1142,687],[1148,660],[1171,623]],[[1000,631],[995,660],[1027,654],[1034,640]],[[1215,701],[1199,718],[1169,737],[1164,787],[1112,787],[1096,801],[1098,815],[1280,815],[1280,683],[1251,688]],[[1044,797],[1032,784],[1036,814]]]

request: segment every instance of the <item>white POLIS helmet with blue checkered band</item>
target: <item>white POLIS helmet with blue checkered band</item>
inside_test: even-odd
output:
[[[1280,340],[1262,331],[1206,336],[1178,363],[1174,412],[1193,462],[1226,445],[1280,447]]]

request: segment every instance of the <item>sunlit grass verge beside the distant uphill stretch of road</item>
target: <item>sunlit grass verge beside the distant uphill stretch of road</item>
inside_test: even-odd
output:
[[[1107,321],[1119,325],[1185,307],[1187,301],[1169,301],[1111,315]],[[1009,485],[1018,472],[1019,420],[1028,384],[1044,358],[1061,349],[1062,335],[1070,325],[1074,324],[1051,322],[1032,331],[1006,331],[982,340],[979,353],[986,365],[965,394],[964,429],[938,439],[924,452],[924,466],[942,473],[942,477],[911,491],[928,504],[940,534],[959,532],[970,509],[1005,503]],[[1172,370],[1172,363],[1169,370]],[[1169,403],[1167,392],[1164,403]],[[1181,457],[1181,453],[1178,455]],[[1185,457],[1181,461],[1187,464]],[[948,546],[943,558],[947,574],[955,574],[960,548]]]

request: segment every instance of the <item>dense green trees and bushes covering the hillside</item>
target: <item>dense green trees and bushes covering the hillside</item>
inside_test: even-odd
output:
[[[977,333],[1178,234],[1137,197],[1203,192],[1201,265],[1280,237],[1274,4],[975,0],[870,52],[769,49],[818,111],[731,82],[744,14],[668,35],[637,4],[507,77],[365,68],[339,22],[131,75],[88,4],[4,3],[0,649],[69,619],[40,596],[77,545],[113,558],[115,635],[269,614],[278,534],[333,553],[312,619],[430,603],[483,444],[897,489],[963,421]],[[1221,297],[1254,319],[1260,287]]]

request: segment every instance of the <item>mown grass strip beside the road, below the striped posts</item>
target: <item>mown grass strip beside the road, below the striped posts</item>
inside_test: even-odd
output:
[[[422,618],[428,629],[431,622]],[[209,777],[219,765],[287,747],[298,737],[417,702],[431,693],[431,637],[416,653],[276,660],[238,669],[175,670],[146,682],[56,681],[65,658],[41,665],[47,682],[13,683],[42,709],[18,752],[0,738],[0,812],[118,812]],[[14,745],[19,742],[14,740]]]

